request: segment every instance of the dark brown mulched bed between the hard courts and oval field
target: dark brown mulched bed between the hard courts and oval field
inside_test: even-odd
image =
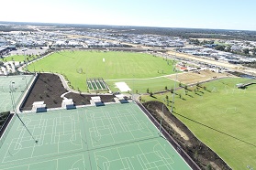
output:
[[[35,85],[32,87],[28,94],[27,100],[21,106],[23,111],[31,111],[32,104],[35,101],[44,101],[47,108],[60,108],[61,107],[61,94],[67,92],[63,87],[59,76],[48,73],[39,74],[39,78],[36,80]],[[65,95],[66,98],[72,99],[75,105],[90,104],[91,94],[77,94],[68,93]],[[101,97],[103,102],[114,101],[114,95],[97,95]]]

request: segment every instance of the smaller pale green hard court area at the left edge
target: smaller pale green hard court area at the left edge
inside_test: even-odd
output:
[[[14,104],[17,106],[33,78],[33,75],[0,76],[0,112],[14,110],[11,95],[13,95]]]

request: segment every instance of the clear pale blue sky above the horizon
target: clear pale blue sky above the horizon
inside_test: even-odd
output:
[[[0,21],[256,30],[256,0],[3,0]]]

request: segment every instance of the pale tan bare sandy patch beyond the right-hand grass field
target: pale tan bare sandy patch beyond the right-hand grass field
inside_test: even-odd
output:
[[[232,77],[229,73],[217,73],[211,70],[202,70],[194,72],[184,72],[177,75],[177,80],[183,84],[195,84],[197,82],[202,82],[206,80],[215,80],[219,78],[228,78]],[[176,75],[170,75],[167,78],[176,80]]]

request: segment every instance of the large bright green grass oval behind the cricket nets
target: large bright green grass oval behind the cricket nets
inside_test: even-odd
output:
[[[74,90],[86,91],[87,78],[148,79],[173,73],[173,60],[145,53],[103,51],[61,51],[28,66],[28,70],[58,72],[71,81]],[[167,79],[165,80],[167,81]],[[110,82],[110,81],[107,81]],[[172,80],[168,80],[168,83]],[[150,86],[152,83],[149,83]],[[168,84],[162,84],[161,89]],[[114,84],[109,84],[113,87]],[[141,88],[139,88],[141,89]]]

